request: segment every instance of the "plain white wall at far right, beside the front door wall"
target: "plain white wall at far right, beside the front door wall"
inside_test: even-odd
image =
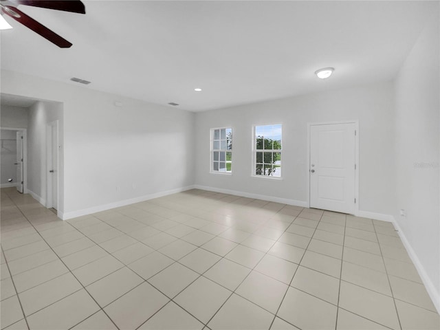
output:
[[[393,214],[440,310],[439,13],[433,14],[396,79]]]

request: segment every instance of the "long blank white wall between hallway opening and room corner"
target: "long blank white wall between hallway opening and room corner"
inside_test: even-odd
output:
[[[63,102],[64,217],[194,183],[193,113],[5,70],[1,89]]]

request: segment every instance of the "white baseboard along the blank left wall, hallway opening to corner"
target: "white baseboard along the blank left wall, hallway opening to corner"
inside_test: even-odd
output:
[[[140,197],[135,197],[131,199],[124,199],[123,201],[115,201],[114,203],[108,203],[100,206],[92,206],[91,208],[84,208],[83,210],[69,211],[69,212],[58,212],[58,217],[61,217],[63,220],[72,219],[76,217],[82,217],[83,215],[92,214],[96,212],[101,212],[105,210],[110,210],[111,208],[120,208],[121,206],[130,205],[133,203],[139,203],[140,201],[148,201],[148,199],[153,199],[157,197],[163,197],[167,195],[176,194],[177,192],[182,192],[186,190],[190,190],[194,188],[194,186],[186,186],[182,188],[176,188],[172,190],[166,190],[162,192],[155,192],[151,195],[144,195]]]

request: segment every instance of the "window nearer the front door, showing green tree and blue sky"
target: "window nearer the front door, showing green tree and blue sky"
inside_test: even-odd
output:
[[[281,177],[281,124],[254,127],[254,173]]]

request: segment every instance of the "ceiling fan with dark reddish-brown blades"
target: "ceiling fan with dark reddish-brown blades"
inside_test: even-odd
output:
[[[32,17],[17,9],[17,5],[32,5],[33,7],[63,10],[65,12],[77,12],[78,14],[85,14],[85,6],[79,0],[0,0],[1,14],[6,14],[15,21],[30,28],[30,30],[40,34],[43,38],[51,43],[54,43],[61,48],[69,48],[72,43],[69,43],[62,36],[59,36],[52,30],[46,28],[43,24],[35,21]]]

